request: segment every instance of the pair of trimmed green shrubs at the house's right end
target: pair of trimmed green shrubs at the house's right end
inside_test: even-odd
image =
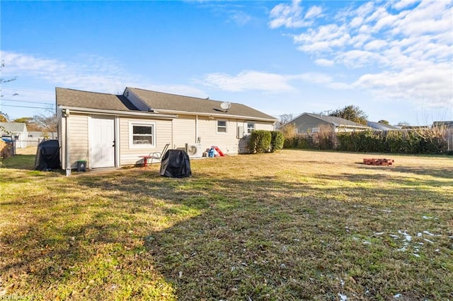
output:
[[[248,141],[250,153],[273,153],[283,148],[285,137],[280,131],[255,130]]]

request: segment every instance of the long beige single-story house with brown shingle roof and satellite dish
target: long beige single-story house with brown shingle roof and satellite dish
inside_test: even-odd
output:
[[[246,151],[253,129],[273,130],[277,119],[246,105],[139,88],[122,95],[56,88],[62,168],[139,163],[139,155],[170,148],[202,156],[211,146],[228,155]],[[189,152],[190,151],[190,152]]]

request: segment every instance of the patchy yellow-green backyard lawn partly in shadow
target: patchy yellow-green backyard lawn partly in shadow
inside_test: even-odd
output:
[[[453,300],[449,157],[285,150],[186,179],[33,163],[0,169],[0,299]]]

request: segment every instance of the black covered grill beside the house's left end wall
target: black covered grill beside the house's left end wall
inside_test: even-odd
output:
[[[58,170],[59,143],[58,140],[45,140],[38,144],[35,158],[35,170]]]

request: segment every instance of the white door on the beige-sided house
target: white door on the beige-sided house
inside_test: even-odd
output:
[[[115,167],[115,119],[91,117],[90,167]]]

